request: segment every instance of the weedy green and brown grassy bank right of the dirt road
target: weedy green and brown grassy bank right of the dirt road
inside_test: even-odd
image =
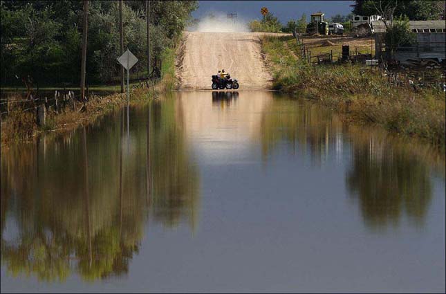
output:
[[[364,66],[309,66],[288,44],[290,37],[263,37],[274,88],[319,100],[346,120],[380,125],[445,147],[445,94],[389,86],[378,71]]]

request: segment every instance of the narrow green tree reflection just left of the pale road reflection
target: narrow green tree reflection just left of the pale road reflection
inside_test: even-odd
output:
[[[180,219],[188,219],[194,226],[198,204],[198,172],[189,163],[183,129],[183,109],[178,100],[154,103],[151,111],[151,154],[153,160],[154,217],[167,226],[176,226]],[[174,113],[171,116],[169,113]],[[160,118],[169,118],[162,119]]]

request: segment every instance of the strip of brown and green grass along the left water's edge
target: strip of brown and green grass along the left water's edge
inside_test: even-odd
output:
[[[160,93],[171,91],[175,86],[175,50],[165,49],[162,53],[162,79],[149,88],[136,88],[131,90],[130,102],[135,103],[139,101],[147,101],[154,98]],[[132,85],[131,85],[132,86]],[[119,86],[115,87],[115,91],[119,91]],[[106,86],[106,90],[111,87]],[[132,87],[131,87],[132,88]],[[92,88],[90,88],[91,90]],[[114,89],[114,88],[113,88]],[[48,131],[63,132],[74,129],[81,123],[88,123],[98,116],[102,116],[109,111],[119,108],[127,104],[127,96],[116,93],[113,95],[93,95],[89,102],[86,102],[86,107],[83,108],[81,102],[75,102],[76,111],[73,106],[67,106],[62,113],[55,113],[55,111],[48,111],[46,116],[46,123],[42,126],[37,126],[35,110],[31,102],[18,102],[14,100],[24,100],[24,95],[15,95],[10,97],[10,112],[8,116],[3,119],[1,123],[1,147],[8,147],[9,145],[29,141]],[[28,109],[28,111],[24,111]]]

